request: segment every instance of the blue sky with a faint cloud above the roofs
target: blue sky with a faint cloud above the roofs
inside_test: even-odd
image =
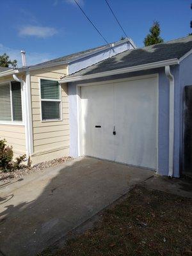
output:
[[[78,1],[108,42],[119,40],[123,33],[104,0]],[[190,0],[108,2],[138,47],[153,20],[160,22],[165,41],[191,32]],[[21,49],[31,65],[105,44],[73,0],[1,0],[0,32],[0,54],[7,52],[19,65]]]

